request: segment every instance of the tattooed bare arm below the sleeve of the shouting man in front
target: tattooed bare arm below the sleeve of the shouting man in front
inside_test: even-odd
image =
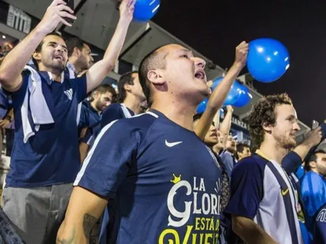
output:
[[[108,200],[76,186],[71,193],[65,221],[60,226],[56,243],[89,243],[92,227],[107,204]]]

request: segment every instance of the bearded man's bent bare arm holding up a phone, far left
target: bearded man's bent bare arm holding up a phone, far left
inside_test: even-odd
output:
[[[76,19],[71,8],[63,0],[54,0],[40,21],[22,42],[6,55],[0,66],[0,83],[8,92],[15,92],[22,85],[22,71],[43,38],[51,33],[60,22],[71,26],[63,17]],[[70,13],[69,13],[70,12]]]

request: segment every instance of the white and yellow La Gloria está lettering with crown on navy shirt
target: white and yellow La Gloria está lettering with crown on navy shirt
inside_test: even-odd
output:
[[[188,182],[182,179],[182,174],[173,174],[170,182],[171,189],[166,200],[170,212],[168,225],[160,234],[158,243],[218,243],[221,214],[221,195],[218,195],[221,191],[220,180],[218,179],[216,186],[212,187],[205,184],[204,178],[193,177]],[[180,202],[180,197],[185,199],[182,206],[176,204]],[[175,198],[178,198],[178,201]],[[185,234],[180,235],[179,229]]]

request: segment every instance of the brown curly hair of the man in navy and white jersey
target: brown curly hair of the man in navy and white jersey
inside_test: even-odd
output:
[[[252,107],[250,115],[248,116],[248,125],[253,151],[259,148],[264,141],[263,125],[276,124],[275,107],[282,104],[292,105],[291,98],[289,98],[286,93],[261,98],[259,102]]]

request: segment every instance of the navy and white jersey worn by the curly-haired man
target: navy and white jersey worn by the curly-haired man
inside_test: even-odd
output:
[[[268,162],[286,183],[286,190],[281,188]],[[284,198],[289,201],[285,203]],[[303,244],[298,220],[303,214],[298,191],[280,164],[273,160],[254,154],[234,166],[225,213],[254,220],[277,243]]]

